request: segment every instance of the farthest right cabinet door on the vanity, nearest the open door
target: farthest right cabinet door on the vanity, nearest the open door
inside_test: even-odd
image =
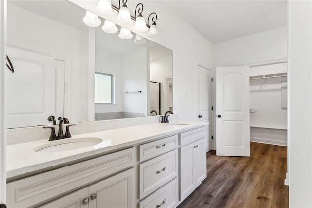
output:
[[[196,184],[196,187],[199,186],[201,182],[207,176],[205,143],[206,143],[205,139],[200,139],[195,142],[195,184]]]

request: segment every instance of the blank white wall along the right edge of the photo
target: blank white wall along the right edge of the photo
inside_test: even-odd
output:
[[[288,1],[289,206],[312,207],[312,1]]]

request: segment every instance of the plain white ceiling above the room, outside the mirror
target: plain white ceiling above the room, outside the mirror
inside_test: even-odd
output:
[[[162,0],[212,43],[287,25],[286,0]]]

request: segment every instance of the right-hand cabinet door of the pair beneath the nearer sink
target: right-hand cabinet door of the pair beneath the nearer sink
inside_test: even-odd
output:
[[[89,208],[134,208],[135,170],[131,168],[89,187]]]

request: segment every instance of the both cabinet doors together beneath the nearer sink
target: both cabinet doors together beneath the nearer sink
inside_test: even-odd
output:
[[[134,208],[135,171],[131,168],[38,208]]]

